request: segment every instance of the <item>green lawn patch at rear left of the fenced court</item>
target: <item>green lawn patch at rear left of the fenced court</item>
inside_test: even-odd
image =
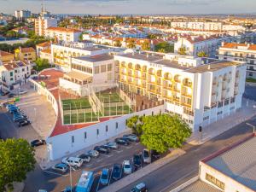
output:
[[[84,108],[91,108],[90,102],[87,97],[80,98],[80,99],[67,99],[62,100],[62,108],[63,110],[75,110],[75,109],[84,109]]]

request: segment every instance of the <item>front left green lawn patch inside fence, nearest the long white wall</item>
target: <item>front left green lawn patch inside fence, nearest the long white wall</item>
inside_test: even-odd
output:
[[[92,114],[92,118],[91,118],[91,114]],[[85,113],[85,119],[84,119],[84,113],[78,113],[78,114],[75,113],[75,114],[72,114],[71,117],[70,117],[70,114],[64,115],[64,125],[77,124],[77,123],[89,123],[97,120],[98,119],[95,113]]]

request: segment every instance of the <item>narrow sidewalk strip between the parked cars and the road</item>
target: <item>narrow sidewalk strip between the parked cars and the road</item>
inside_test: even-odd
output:
[[[170,154],[167,154],[164,158],[160,160],[154,161],[154,163],[143,167],[143,169],[138,170],[137,172],[132,173],[129,176],[122,178],[121,180],[112,183],[108,187],[101,190],[101,192],[115,192],[119,189],[125,188],[125,186],[136,182],[138,179],[148,175],[150,172],[154,172],[155,170],[159,169],[161,166],[165,166],[166,164],[170,163],[173,160],[176,160],[179,156],[185,154],[185,151],[182,149],[174,149]]]

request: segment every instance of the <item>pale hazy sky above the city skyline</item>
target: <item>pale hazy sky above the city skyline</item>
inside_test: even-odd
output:
[[[38,13],[43,0],[0,0],[0,13],[15,9]],[[256,0],[44,0],[52,14],[247,14]]]

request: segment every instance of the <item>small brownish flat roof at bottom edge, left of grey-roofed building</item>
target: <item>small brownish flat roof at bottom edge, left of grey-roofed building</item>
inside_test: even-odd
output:
[[[201,180],[197,180],[195,183],[190,184],[179,192],[221,192],[221,190],[216,189],[212,187],[212,185],[204,183]]]

